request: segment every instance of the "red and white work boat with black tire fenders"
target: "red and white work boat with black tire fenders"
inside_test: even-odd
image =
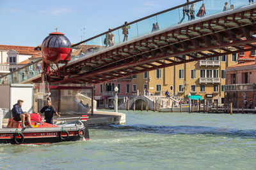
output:
[[[36,114],[37,115],[37,114]],[[0,129],[0,143],[11,144],[51,144],[61,141],[89,140],[87,115],[73,118],[61,118],[59,124],[47,124],[33,121],[33,128],[21,128],[21,121],[9,119],[7,127]],[[28,126],[28,123],[25,122]]]

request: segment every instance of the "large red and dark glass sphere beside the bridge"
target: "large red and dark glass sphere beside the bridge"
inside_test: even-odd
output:
[[[42,43],[42,55],[45,62],[67,62],[70,60],[71,52],[71,43],[61,32],[52,32]]]

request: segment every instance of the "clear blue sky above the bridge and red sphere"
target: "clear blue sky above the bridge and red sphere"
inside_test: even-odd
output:
[[[71,43],[132,22],[186,0],[0,0],[0,45],[37,46],[58,31]],[[84,39],[84,38],[83,38]]]

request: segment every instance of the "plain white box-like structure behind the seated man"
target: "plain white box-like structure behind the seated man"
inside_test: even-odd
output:
[[[20,99],[24,101],[22,110],[33,111],[33,84],[4,84],[0,85],[0,108],[12,110],[13,105]]]

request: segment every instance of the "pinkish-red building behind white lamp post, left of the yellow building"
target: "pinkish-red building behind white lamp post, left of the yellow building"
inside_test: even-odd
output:
[[[118,103],[121,103],[124,97],[130,97],[132,95],[131,84],[131,77],[127,77],[93,85],[97,108],[114,108],[115,87],[118,87]]]

